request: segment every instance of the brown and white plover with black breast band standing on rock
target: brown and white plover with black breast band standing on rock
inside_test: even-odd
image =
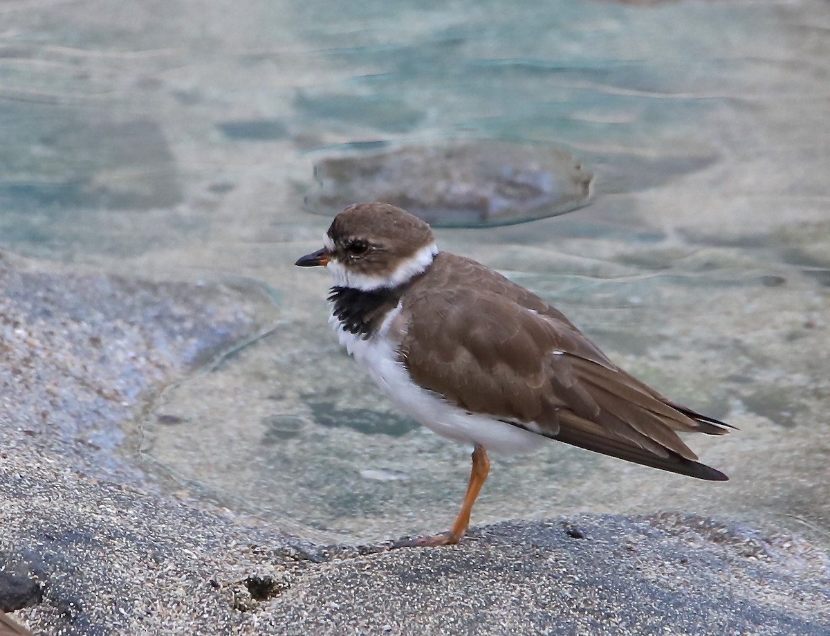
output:
[[[346,208],[317,252],[295,263],[334,279],[330,323],[388,398],[435,433],[471,444],[472,469],[449,531],[461,539],[490,471],[488,451],[545,438],[690,477],[725,481],[677,433],[729,424],[664,398],[618,367],[560,311],[471,260],[439,252],[432,229],[387,203]]]

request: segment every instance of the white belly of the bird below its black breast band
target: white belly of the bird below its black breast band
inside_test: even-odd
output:
[[[334,316],[329,319],[337,330],[340,344],[346,347],[398,409],[442,437],[478,444],[488,451],[526,453],[539,447],[541,439],[544,439],[540,435],[486,415],[467,413],[447,403],[439,394],[415,384],[406,367],[398,362],[395,343],[387,337],[388,325],[399,311],[400,306],[391,311],[369,340],[343,330]]]

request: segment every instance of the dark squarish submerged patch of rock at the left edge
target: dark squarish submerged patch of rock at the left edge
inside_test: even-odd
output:
[[[159,122],[86,117],[51,105],[7,105],[0,115],[0,204],[46,209],[172,208],[183,200]]]

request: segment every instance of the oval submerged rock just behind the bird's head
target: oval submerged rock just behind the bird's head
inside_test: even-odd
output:
[[[437,227],[524,223],[570,212],[591,196],[593,174],[552,146],[476,140],[337,154],[315,164],[320,189],[310,212],[333,216],[352,203],[383,201]]]

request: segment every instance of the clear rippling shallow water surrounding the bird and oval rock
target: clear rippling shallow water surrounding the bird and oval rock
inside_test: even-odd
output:
[[[47,8],[45,8],[47,7]],[[694,482],[550,443],[496,458],[474,522],[682,509],[830,527],[826,2],[7,2],[0,246],[260,281],[275,330],[164,394],[144,453],[305,536],[437,531],[468,449],[391,410],[293,267],[344,144],[510,139],[576,155],[593,202],[437,232],[614,360],[740,431]],[[806,527],[806,526],[804,526]]]

